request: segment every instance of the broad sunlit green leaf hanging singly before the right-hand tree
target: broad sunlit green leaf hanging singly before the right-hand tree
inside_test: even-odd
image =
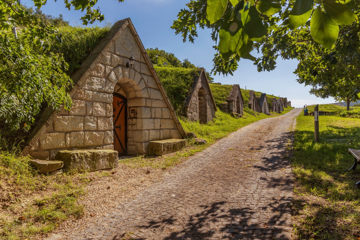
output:
[[[331,49],[339,35],[339,26],[318,6],[311,17],[310,33],[316,42]]]

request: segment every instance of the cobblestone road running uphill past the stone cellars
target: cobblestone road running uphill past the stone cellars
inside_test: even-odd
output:
[[[287,144],[301,109],[241,128],[85,231],[62,239],[289,239]],[[67,235],[67,237],[65,237]],[[53,236],[53,237],[56,237]],[[58,239],[56,237],[56,239]],[[55,239],[55,238],[54,238]]]

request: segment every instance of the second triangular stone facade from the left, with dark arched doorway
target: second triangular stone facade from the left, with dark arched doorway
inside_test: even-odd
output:
[[[210,85],[202,68],[194,77],[192,88],[185,99],[184,113],[189,121],[207,123],[212,121],[217,111]]]

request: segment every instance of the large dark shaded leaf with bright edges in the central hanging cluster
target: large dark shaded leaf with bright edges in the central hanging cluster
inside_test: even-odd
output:
[[[262,42],[265,39],[267,29],[262,23],[259,12],[252,5],[248,10],[244,10],[241,20],[243,22],[244,31],[249,39],[256,42]]]

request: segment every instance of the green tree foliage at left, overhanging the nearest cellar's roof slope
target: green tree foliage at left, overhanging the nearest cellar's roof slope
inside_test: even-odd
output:
[[[100,10],[93,8],[96,3],[64,0],[69,10],[73,7],[84,12],[81,20],[85,25],[104,19]],[[46,1],[33,0],[33,4],[35,12],[17,0],[0,1],[0,118],[11,129],[28,130],[43,105],[58,110],[72,105],[68,64],[62,54],[49,51],[54,43],[62,43],[55,25],[66,21],[61,16],[44,21],[49,16],[39,9]]]

